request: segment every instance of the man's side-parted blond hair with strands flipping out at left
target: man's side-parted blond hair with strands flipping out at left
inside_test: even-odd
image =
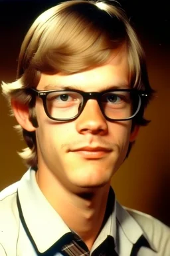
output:
[[[133,125],[146,125],[143,118],[153,90],[147,77],[145,58],[141,45],[129,24],[126,14],[114,1],[73,0],[60,3],[42,13],[29,29],[19,54],[17,80],[2,83],[3,95],[29,106],[30,120],[38,127],[35,99],[27,88],[37,87],[41,73],[76,73],[104,64],[117,49],[126,43],[128,48],[131,86],[147,90],[148,99],[143,103]],[[27,143],[20,153],[25,163],[37,167],[35,132],[18,125]],[[131,145],[129,145],[130,149]]]

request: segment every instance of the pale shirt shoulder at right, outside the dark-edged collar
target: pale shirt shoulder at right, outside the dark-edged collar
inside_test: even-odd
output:
[[[158,250],[165,250],[166,248],[170,251],[170,228],[163,224],[158,219],[151,217],[151,215],[141,213],[134,209],[124,207],[128,211],[129,215],[135,219],[139,224],[145,237],[156,245]]]

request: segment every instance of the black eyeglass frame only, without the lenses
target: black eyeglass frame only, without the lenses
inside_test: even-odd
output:
[[[31,91],[30,91],[31,90]],[[75,93],[79,93],[80,95],[82,95],[83,98],[83,103],[82,106],[80,108],[80,111],[78,111],[77,115],[75,115],[74,117],[71,118],[65,118],[65,119],[57,119],[54,117],[51,117],[50,114],[48,113],[48,109],[46,107],[46,97],[49,93],[55,93],[55,92],[75,92]],[[135,111],[135,113],[133,115],[131,115],[131,117],[127,117],[124,119],[112,119],[110,117],[107,117],[107,115],[104,113],[103,107],[102,107],[102,103],[100,102],[100,99],[102,98],[102,95],[106,94],[106,93],[110,93],[110,92],[116,92],[116,91],[122,91],[122,92],[129,92],[129,93],[134,93],[135,95],[138,95],[139,97],[139,105],[137,107],[137,110]],[[54,120],[54,121],[70,121],[70,120],[74,120],[76,118],[78,118],[82,111],[84,110],[84,107],[86,106],[86,103],[89,99],[96,99],[96,101],[98,102],[98,105],[100,107],[100,110],[102,111],[102,114],[104,115],[104,117],[106,118],[106,120],[108,121],[127,121],[130,119],[133,119],[133,117],[135,117],[137,115],[137,113],[139,112],[139,109],[141,108],[141,104],[142,104],[142,97],[147,97],[147,91],[142,91],[142,90],[137,90],[137,89],[108,89],[106,91],[101,91],[101,92],[84,92],[84,91],[80,91],[80,90],[75,90],[75,89],[64,89],[64,90],[48,90],[48,91],[40,91],[34,88],[29,88],[29,93],[33,93],[35,94],[37,97],[42,99],[42,103],[43,103],[43,107],[44,107],[44,111],[47,115],[47,117],[49,117],[50,119]]]

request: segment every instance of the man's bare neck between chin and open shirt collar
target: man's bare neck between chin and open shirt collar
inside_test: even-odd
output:
[[[110,184],[72,193],[54,177],[51,179],[48,177],[48,180],[42,179],[39,171],[37,183],[50,205],[66,225],[82,238],[90,250],[104,221]]]

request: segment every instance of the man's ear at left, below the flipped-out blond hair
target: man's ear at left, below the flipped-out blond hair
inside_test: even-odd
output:
[[[11,107],[17,122],[27,131],[35,131],[35,127],[29,120],[29,107],[23,103],[11,100]]]

